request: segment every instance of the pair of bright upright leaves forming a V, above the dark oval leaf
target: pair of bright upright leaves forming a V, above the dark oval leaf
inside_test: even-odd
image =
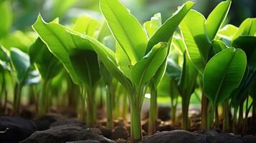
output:
[[[191,10],[181,22],[180,28],[186,44],[189,58],[199,70],[204,73],[207,61],[212,57],[211,41],[215,39],[219,29],[222,27],[231,0],[222,1],[205,19],[202,14]]]

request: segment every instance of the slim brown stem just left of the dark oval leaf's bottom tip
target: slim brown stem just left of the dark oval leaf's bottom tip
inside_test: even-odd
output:
[[[207,107],[208,107],[208,99],[204,96],[204,92],[202,92],[202,114],[201,114],[201,128],[207,129]]]

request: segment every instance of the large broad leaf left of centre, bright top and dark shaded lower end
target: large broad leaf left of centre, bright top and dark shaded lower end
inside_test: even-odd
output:
[[[75,31],[56,23],[45,23],[39,15],[34,30],[67,69],[75,84],[95,87],[100,79],[98,57],[93,47]]]

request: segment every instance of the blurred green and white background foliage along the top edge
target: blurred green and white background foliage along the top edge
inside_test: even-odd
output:
[[[156,12],[161,12],[166,20],[186,0],[121,0],[131,9],[141,23],[150,19]],[[194,9],[207,16],[222,0],[192,0],[196,2]],[[31,25],[39,13],[44,19],[51,21],[60,17],[60,23],[70,24],[77,17],[89,14],[100,19],[99,0],[0,0],[0,38],[9,31],[31,31]],[[233,0],[228,15],[229,23],[239,26],[247,17],[256,16],[255,0]]]

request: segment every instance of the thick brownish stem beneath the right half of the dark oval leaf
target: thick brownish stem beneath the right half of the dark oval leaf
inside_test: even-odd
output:
[[[223,132],[229,132],[229,101],[226,99],[223,102],[223,112],[224,112],[224,120],[223,120]]]

